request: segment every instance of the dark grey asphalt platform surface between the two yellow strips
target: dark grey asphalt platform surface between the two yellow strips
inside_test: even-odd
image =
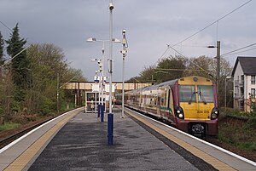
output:
[[[192,165],[130,117],[120,118],[119,109],[113,109],[113,116],[113,145],[108,145],[107,115],[101,123],[95,113],[80,112],[25,169],[215,170],[196,157],[197,166]]]

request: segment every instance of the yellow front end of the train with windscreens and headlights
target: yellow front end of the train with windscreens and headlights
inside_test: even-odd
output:
[[[189,134],[217,135],[219,111],[215,84],[205,77],[183,77],[173,90],[176,128]]]

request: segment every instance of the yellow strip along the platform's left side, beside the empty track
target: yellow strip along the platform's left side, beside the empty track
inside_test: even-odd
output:
[[[55,134],[64,124],[66,124],[72,117],[78,114],[79,111],[73,111],[73,114],[63,118],[59,123],[55,124],[54,127],[50,128],[43,136],[36,140],[26,151],[24,151],[20,157],[17,157],[4,171],[20,171],[26,167],[28,162],[38,153],[43,145],[49,140],[49,138]]]

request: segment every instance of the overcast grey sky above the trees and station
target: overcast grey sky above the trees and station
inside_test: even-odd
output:
[[[113,0],[113,37],[121,40],[126,30],[129,43],[125,59],[125,79],[138,76],[154,65],[166,51],[166,44],[176,44],[220,19],[248,0]],[[63,49],[70,66],[93,80],[96,63],[102,57],[102,43],[87,43],[89,37],[109,39],[108,0],[0,0],[0,21],[9,28],[19,23],[20,37],[28,43],[54,43]],[[207,27],[204,31],[173,47],[187,57],[214,57],[221,42],[221,54],[256,43],[256,2]],[[11,31],[0,24],[4,39]],[[250,48],[255,48],[252,46]],[[250,49],[247,48],[247,49]],[[105,69],[109,58],[105,44]],[[113,81],[121,81],[120,43],[113,44]],[[245,50],[245,49],[243,49]],[[175,55],[172,48],[163,57]],[[256,56],[256,50],[224,56],[233,66],[237,55]]]

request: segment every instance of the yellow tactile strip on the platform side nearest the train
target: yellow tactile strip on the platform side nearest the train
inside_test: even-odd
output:
[[[217,168],[218,170],[224,170],[224,171],[236,170],[235,168],[231,168],[226,163],[221,162],[217,158],[208,155],[204,151],[201,151],[200,149],[196,148],[195,146],[190,145],[189,143],[186,143],[185,141],[178,139],[176,136],[173,136],[172,134],[167,133],[165,130],[162,130],[161,128],[159,128],[157,126],[154,126],[152,123],[149,123],[148,121],[142,119],[141,117],[137,117],[137,115],[134,115],[133,113],[131,113],[131,111],[125,110],[125,112],[128,113],[129,115],[131,115],[131,117],[135,117],[138,121],[146,124],[148,127],[153,128],[156,132],[162,134],[167,139],[172,140],[177,145],[182,146],[184,149],[191,152],[196,157],[200,157],[205,162],[211,164],[214,168]]]

